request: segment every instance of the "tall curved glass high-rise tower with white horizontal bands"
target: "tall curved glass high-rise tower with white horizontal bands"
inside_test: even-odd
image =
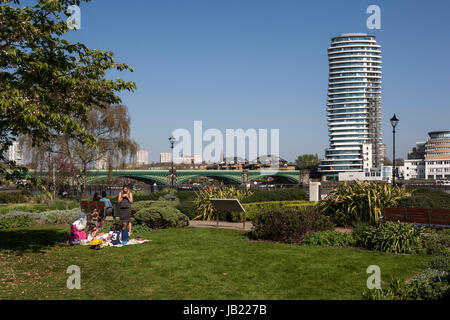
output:
[[[383,164],[381,47],[365,33],[341,34],[331,39],[328,61],[330,147],[319,171],[335,180],[339,172],[369,171]]]

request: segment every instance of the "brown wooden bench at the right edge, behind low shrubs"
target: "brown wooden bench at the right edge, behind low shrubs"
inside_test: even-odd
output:
[[[424,208],[385,208],[383,221],[413,223],[430,228],[450,228],[450,210]]]

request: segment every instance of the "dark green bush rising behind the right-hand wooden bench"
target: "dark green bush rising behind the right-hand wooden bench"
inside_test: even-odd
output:
[[[416,189],[398,201],[399,208],[450,209],[450,194],[433,189]]]

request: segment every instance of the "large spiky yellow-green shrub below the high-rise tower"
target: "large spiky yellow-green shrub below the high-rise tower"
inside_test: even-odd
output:
[[[351,226],[356,221],[377,225],[386,207],[410,195],[405,188],[377,182],[344,183],[319,202],[318,209],[339,226]]]

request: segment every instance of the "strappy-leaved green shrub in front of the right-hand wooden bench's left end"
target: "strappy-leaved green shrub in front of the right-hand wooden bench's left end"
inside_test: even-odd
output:
[[[398,222],[385,222],[364,231],[364,247],[370,250],[410,253],[420,243],[423,228]]]

